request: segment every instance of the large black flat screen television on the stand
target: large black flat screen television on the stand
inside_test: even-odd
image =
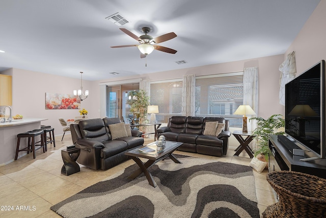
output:
[[[285,84],[285,132],[314,153],[326,153],[326,75],[321,60]]]

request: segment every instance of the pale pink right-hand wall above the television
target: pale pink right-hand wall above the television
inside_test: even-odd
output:
[[[321,0],[285,56],[295,51],[296,76],[326,59],[326,0]]]

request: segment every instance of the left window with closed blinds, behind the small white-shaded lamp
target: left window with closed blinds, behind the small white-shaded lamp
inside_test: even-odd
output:
[[[182,79],[151,82],[151,105],[158,105],[156,120],[168,123],[171,116],[181,116]]]

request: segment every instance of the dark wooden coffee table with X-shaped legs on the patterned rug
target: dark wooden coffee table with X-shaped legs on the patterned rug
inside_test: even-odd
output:
[[[147,146],[153,146],[154,144],[156,144],[156,141],[147,144]],[[166,141],[165,149],[163,151],[157,152],[156,154],[149,154],[149,153],[144,153],[144,152],[139,151],[140,148],[144,148],[146,146],[142,146],[140,148],[136,148],[136,149],[126,152],[125,155],[131,157],[131,159],[134,160],[134,162],[136,162],[139,166],[139,169],[137,171],[135,171],[133,174],[131,174],[128,177],[128,179],[131,179],[131,180],[135,179],[139,175],[144,173],[148,180],[148,183],[151,186],[156,187],[156,183],[155,183],[151,173],[148,171],[148,168],[151,167],[152,165],[154,165],[155,163],[157,163],[158,161],[163,160],[167,157],[170,157],[171,160],[173,160],[175,163],[182,163],[172,154],[182,144],[183,144],[182,142]],[[144,163],[140,158],[148,159],[148,161]]]

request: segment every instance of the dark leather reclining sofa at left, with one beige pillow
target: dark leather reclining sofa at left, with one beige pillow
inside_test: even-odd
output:
[[[119,118],[95,118],[71,124],[72,141],[80,148],[77,162],[92,169],[108,169],[128,159],[125,153],[144,144],[142,132],[131,130],[132,136],[112,140],[108,125],[121,123]]]

